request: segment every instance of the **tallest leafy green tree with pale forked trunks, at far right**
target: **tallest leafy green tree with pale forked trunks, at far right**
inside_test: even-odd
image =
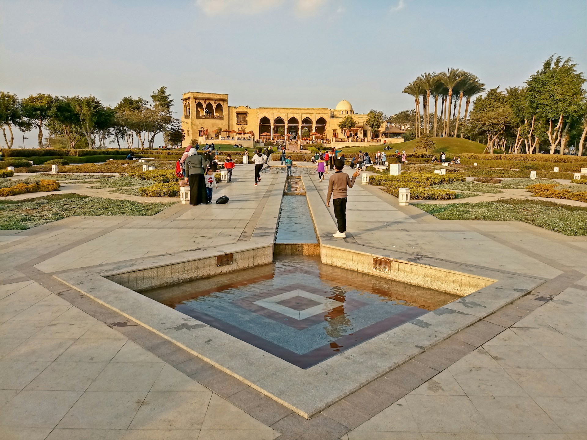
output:
[[[556,147],[564,154],[569,128],[585,114],[585,77],[575,67],[572,58],[551,55],[526,81],[529,109],[548,126],[550,154]]]

